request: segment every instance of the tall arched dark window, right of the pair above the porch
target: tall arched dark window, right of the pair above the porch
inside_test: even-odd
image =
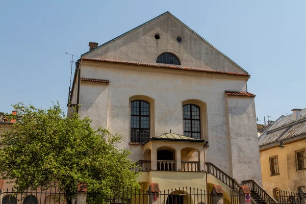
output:
[[[188,104],[183,106],[184,136],[201,139],[200,108]]]

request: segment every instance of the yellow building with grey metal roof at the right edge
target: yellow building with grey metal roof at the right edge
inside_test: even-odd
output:
[[[263,187],[275,199],[306,186],[306,109],[292,111],[259,137]]]

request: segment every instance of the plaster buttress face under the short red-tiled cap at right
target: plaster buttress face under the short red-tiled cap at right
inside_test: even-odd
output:
[[[262,183],[254,98],[228,96],[228,130],[233,178]]]

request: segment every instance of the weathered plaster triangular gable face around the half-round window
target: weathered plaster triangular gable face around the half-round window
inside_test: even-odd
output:
[[[156,40],[155,34],[159,34],[161,38]],[[182,42],[176,41],[179,36],[182,37]],[[157,57],[166,52],[175,54],[182,66],[247,73],[168,11],[81,57],[156,63]]]

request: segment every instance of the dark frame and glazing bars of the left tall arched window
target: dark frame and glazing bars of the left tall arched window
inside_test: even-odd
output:
[[[135,101],[139,101],[139,115],[132,115],[132,103],[135,102]],[[148,104],[148,115],[141,115],[141,102],[144,102],[146,104]],[[140,99],[135,99],[135,100],[132,100],[130,102],[130,106],[131,106],[131,110],[130,110],[130,142],[131,143],[144,143],[145,141],[141,141],[141,130],[148,130],[149,133],[148,133],[148,138],[150,138],[150,103],[148,101],[145,101],[145,100],[140,100]],[[131,121],[132,121],[132,116],[136,116],[136,117],[139,117],[139,127],[132,127],[131,125]],[[148,120],[148,125],[149,127],[148,128],[141,128],[141,117],[147,117],[149,118]],[[132,141],[132,131],[131,130],[139,130],[139,140],[138,141]]]

